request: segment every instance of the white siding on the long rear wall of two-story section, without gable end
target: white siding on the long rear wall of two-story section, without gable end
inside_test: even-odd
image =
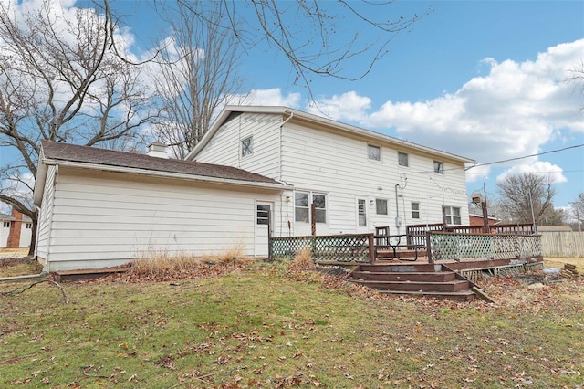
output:
[[[360,230],[355,216],[355,198],[366,199],[367,225],[390,226],[391,234],[397,233],[395,226],[395,185],[398,190],[401,232],[408,224],[441,223],[444,198],[454,204],[466,204],[466,182],[464,169],[460,173],[434,174],[433,156],[408,153],[409,167],[413,172],[407,175],[407,184],[395,172],[398,153],[383,152],[388,146],[381,146],[384,156],[378,168],[372,169],[370,160],[364,158],[363,150],[369,143],[351,139],[335,132],[308,129],[287,123],[282,132],[282,181],[300,188],[327,193],[328,227],[330,234],[354,233]],[[464,167],[463,163],[452,167]],[[444,167],[451,167],[444,162]],[[385,173],[384,173],[385,172]],[[388,201],[388,215],[377,215],[375,200],[385,197]],[[423,219],[413,219],[410,204],[424,204]],[[468,220],[463,212],[463,220]],[[291,210],[293,211],[293,209]],[[284,220],[284,218],[283,218]],[[290,216],[294,221],[294,216]]]

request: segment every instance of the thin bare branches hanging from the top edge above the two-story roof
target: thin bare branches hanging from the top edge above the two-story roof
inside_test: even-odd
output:
[[[163,3],[159,0],[158,3]],[[200,0],[179,0],[199,20],[211,19],[198,8]],[[219,0],[226,17],[214,23],[222,34],[251,50],[262,43],[276,48],[307,87],[313,76],[357,80],[365,77],[390,52],[391,41],[433,12],[392,15],[393,1],[322,2],[319,0]],[[302,23],[298,23],[301,20]],[[213,24],[213,23],[212,23]],[[349,71],[348,69],[355,69]]]

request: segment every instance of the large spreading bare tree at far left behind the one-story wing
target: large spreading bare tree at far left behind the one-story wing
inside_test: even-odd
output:
[[[12,159],[0,166],[0,201],[32,219],[30,254],[39,142],[137,142],[156,114],[140,69],[112,52],[118,32],[110,15],[56,5],[0,2],[0,146]]]

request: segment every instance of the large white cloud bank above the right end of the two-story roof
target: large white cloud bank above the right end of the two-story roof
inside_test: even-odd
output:
[[[470,79],[454,93],[422,102],[387,101],[369,114],[370,99],[356,92],[317,104],[332,119],[393,130],[402,139],[479,163],[502,161],[536,154],[553,140],[581,139],[581,100],[565,79],[568,70],[579,65],[582,53],[584,39],[549,47],[525,62],[485,58],[481,64],[489,67],[488,74]],[[566,180],[558,166],[537,158],[506,163],[517,171],[527,165],[539,172],[559,171],[556,182]],[[487,166],[477,169],[469,174],[471,180],[489,173]]]

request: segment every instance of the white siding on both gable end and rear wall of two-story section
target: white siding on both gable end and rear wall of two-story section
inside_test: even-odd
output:
[[[281,131],[280,125],[283,125]],[[238,159],[241,140],[252,135],[252,132],[253,155]],[[381,161],[369,159],[370,145],[380,148]],[[281,114],[244,112],[225,123],[214,139],[199,152],[196,160],[241,167],[292,184],[297,191],[326,194],[327,223],[318,224],[319,235],[361,231],[356,220],[357,197],[366,200],[371,232],[374,226],[390,226],[391,234],[397,233],[396,216],[401,218],[401,232],[409,224],[441,223],[445,200],[460,204],[463,221],[468,223],[468,213],[463,206],[466,204],[464,163],[444,158],[443,155],[410,150],[403,145],[400,145],[399,152],[407,153],[408,168],[399,166],[398,148],[391,142],[370,142],[331,128],[307,127],[294,118],[283,124]],[[231,155],[231,160],[227,161],[225,155]],[[435,160],[442,161],[443,169],[449,173],[433,173]],[[398,168],[406,174],[416,174],[400,176],[395,173]],[[457,170],[451,171],[453,168]],[[407,184],[403,181],[404,177]],[[397,210],[396,184],[405,187],[398,190]],[[281,203],[276,203],[275,236],[309,235],[307,223],[295,222],[294,194],[286,196],[290,197],[289,202],[283,197]],[[375,200],[378,198],[388,200],[387,215],[377,214]],[[412,218],[412,202],[423,205],[424,212],[420,219]]]

